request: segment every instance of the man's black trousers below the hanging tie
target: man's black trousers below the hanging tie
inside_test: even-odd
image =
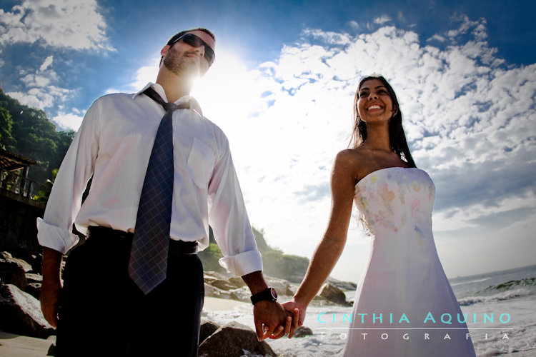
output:
[[[170,255],[166,280],[144,295],[127,271],[131,235],[101,232],[67,258],[56,356],[197,356],[204,299],[197,254]]]

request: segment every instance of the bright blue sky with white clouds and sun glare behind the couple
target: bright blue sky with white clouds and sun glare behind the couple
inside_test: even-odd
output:
[[[94,1],[0,4],[0,81],[77,129],[98,96],[154,81],[175,32],[207,26],[217,59],[197,83],[229,136],[250,220],[310,256],[329,170],[347,145],[359,78],[399,96],[417,166],[437,186],[447,276],[536,263],[534,1]],[[352,223],[333,276],[357,281],[368,240]]]

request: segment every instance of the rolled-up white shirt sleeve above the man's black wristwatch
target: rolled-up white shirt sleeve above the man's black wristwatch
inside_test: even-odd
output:
[[[229,141],[223,133],[217,140],[221,150],[209,182],[209,222],[224,255],[219,264],[229,273],[244,276],[262,271],[262,257],[247,216]]]

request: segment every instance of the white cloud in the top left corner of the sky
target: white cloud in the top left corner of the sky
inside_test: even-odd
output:
[[[20,42],[114,51],[95,0],[22,0],[0,9],[0,46]]]

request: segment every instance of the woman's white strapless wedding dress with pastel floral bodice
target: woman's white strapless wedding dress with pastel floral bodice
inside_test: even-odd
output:
[[[374,171],[355,186],[372,248],[357,285],[344,356],[475,356],[437,256],[434,199],[430,176],[416,168]]]

